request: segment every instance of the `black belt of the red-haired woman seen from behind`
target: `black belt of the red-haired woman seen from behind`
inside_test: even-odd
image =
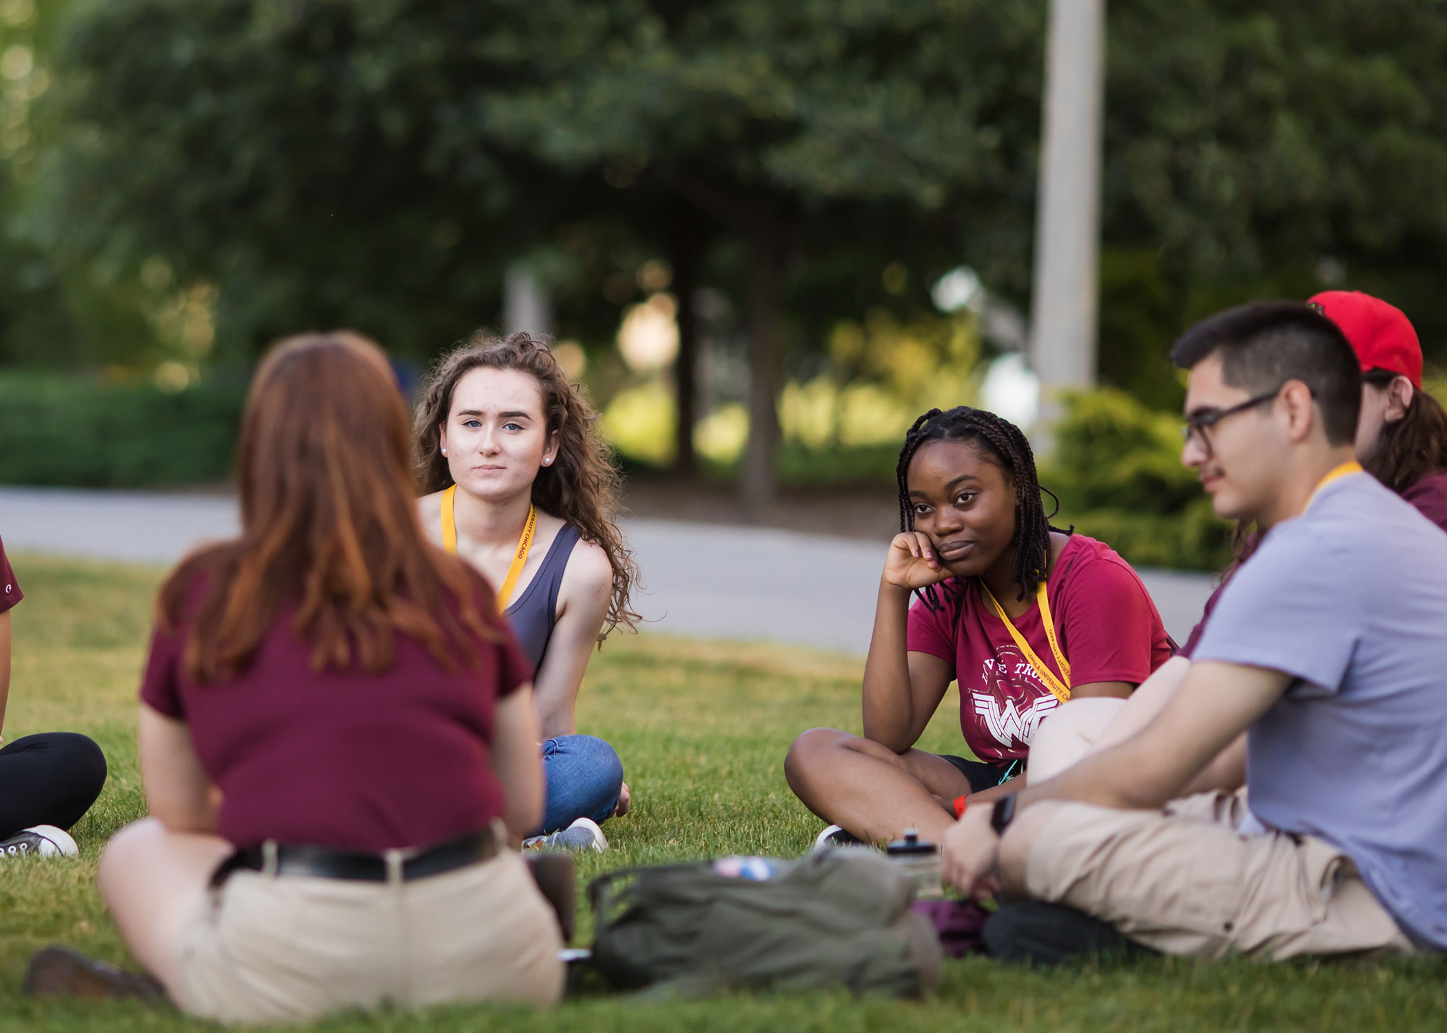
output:
[[[498,838],[491,828],[469,832],[436,846],[405,851],[339,851],[330,846],[287,846],[265,842],[242,846],[226,858],[211,874],[211,885],[224,883],[233,871],[260,871],[272,875],[313,875],[315,878],[346,878],[363,883],[386,883],[391,871],[405,883],[428,875],[463,868],[498,855]]]

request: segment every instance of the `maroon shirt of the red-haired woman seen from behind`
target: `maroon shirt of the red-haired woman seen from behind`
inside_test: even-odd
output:
[[[224,794],[221,836],[382,851],[451,839],[502,815],[493,705],[532,677],[511,631],[501,645],[476,644],[475,671],[447,673],[398,635],[381,674],[314,674],[291,619],[288,608],[243,674],[205,686],[182,670],[185,626],[158,628],[150,642],[140,699],[190,728]]]

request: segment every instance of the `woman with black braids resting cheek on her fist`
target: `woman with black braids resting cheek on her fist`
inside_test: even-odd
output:
[[[904,438],[897,477],[900,534],[880,579],[864,735],[816,728],[784,760],[789,786],[831,823],[820,843],[906,828],[941,842],[956,815],[1004,791],[1056,706],[1129,696],[1171,655],[1130,566],[1051,527],[1014,424],[930,409]],[[956,680],[974,760],[915,748]]]

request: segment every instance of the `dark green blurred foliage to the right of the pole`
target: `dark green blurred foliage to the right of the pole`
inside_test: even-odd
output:
[[[1378,294],[1447,359],[1447,3],[1111,0],[1101,375],[1253,298]]]

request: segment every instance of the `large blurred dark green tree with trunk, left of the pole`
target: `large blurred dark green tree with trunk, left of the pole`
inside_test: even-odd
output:
[[[684,278],[737,239],[745,485],[765,498],[800,259],[864,258],[815,291],[835,317],[860,308],[844,282],[888,294],[910,242],[933,245],[903,255],[919,282],[961,250],[1023,281],[1029,231],[998,203],[1029,194],[1004,145],[1033,135],[1037,20],[961,0],[87,3],[62,51],[56,236],[217,282],[233,353],[346,321],[418,354],[495,311],[519,253],[566,302],[596,271],[560,229],[596,239],[599,213]]]

